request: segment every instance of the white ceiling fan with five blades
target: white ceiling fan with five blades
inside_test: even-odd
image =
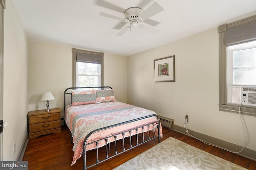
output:
[[[144,6],[145,4],[147,4],[148,2],[150,2],[151,0],[143,0],[139,6]],[[118,16],[113,16],[110,14],[106,14],[104,12],[100,12],[100,16],[104,16],[104,17],[108,17],[108,18],[112,18],[112,19],[116,19],[116,20],[120,20],[122,21],[122,23],[120,23],[119,25],[117,25],[115,28],[116,29],[121,29],[124,24],[129,23],[128,26],[124,27],[120,32],[118,32],[116,35],[120,36],[120,35],[124,35],[124,33],[126,33],[126,31],[130,30],[132,28],[143,28],[144,31],[147,31],[149,33],[152,34],[156,34],[158,32],[160,32],[159,29],[156,29],[154,27],[150,27],[148,25],[144,25],[142,24],[142,22],[144,23],[148,23],[149,25],[156,25],[158,24],[157,21],[154,20],[150,20],[149,18],[158,14],[159,12],[163,11],[164,8],[162,8],[158,3],[154,2],[150,7],[148,7],[146,10],[142,10],[142,7],[131,7],[128,8],[126,10],[120,8],[119,6],[116,6],[114,4],[111,4],[110,2],[106,2],[104,0],[98,0],[97,5],[99,6],[103,6],[105,8],[109,8],[109,9],[114,9],[118,12],[124,12],[124,16],[125,18],[121,18]]]

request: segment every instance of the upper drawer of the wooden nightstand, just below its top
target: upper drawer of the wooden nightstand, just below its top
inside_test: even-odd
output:
[[[54,121],[60,119],[60,113],[30,116],[30,124]]]

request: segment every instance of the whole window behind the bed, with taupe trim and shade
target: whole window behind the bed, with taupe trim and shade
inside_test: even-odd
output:
[[[72,86],[103,86],[104,53],[72,48]]]

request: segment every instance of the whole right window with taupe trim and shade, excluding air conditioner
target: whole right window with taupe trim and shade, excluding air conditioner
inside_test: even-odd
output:
[[[255,107],[239,101],[241,86],[255,86],[256,15],[220,25],[219,33],[219,110],[256,116]]]

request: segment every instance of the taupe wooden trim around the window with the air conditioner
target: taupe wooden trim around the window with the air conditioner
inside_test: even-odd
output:
[[[256,107],[241,106],[236,104],[227,104],[227,45],[226,45],[226,31],[228,29],[245,25],[256,21],[256,15],[238,20],[232,23],[223,24],[219,26],[220,37],[220,80],[219,80],[219,110],[232,113],[239,113],[244,115],[256,116]]]

